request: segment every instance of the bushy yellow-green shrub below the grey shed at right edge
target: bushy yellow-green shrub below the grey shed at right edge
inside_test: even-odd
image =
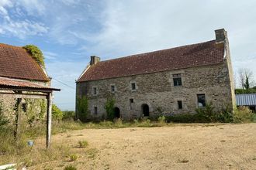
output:
[[[248,107],[238,107],[234,110],[234,122],[248,123],[254,121],[255,115]]]

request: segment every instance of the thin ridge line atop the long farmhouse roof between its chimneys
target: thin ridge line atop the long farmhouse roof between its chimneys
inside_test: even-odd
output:
[[[146,54],[162,52],[162,51],[170,50],[170,49],[179,49],[179,48],[184,48],[184,47],[189,47],[189,46],[196,46],[196,45],[199,45],[199,44],[204,44],[204,43],[213,42],[213,41],[215,41],[215,39],[209,40],[209,41],[206,41],[206,42],[198,42],[198,43],[194,43],[194,44],[187,44],[187,45],[184,45],[184,46],[175,46],[175,47],[168,48],[168,49],[159,49],[159,50],[145,52],[145,53],[132,54],[132,55],[129,55],[129,56],[121,56],[121,57],[116,57],[114,59],[106,59],[106,60],[100,61],[99,63],[109,62],[109,61],[117,60],[117,59],[130,58],[130,57],[134,57],[134,56],[143,56],[143,55],[146,55]]]

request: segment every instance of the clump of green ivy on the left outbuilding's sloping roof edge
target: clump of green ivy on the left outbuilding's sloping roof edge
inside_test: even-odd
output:
[[[43,68],[45,68],[44,58],[42,51],[35,45],[26,45],[22,47],[23,49],[26,49],[27,53],[30,54],[30,56],[33,57],[33,59],[36,60],[36,63],[39,63]]]

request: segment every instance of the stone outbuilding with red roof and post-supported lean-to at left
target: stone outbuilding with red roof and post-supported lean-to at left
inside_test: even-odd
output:
[[[0,44],[1,115],[16,126],[16,135],[29,123],[45,120],[47,114],[47,146],[50,146],[52,96],[50,77],[44,67],[19,46]],[[22,125],[24,124],[24,128]]]

